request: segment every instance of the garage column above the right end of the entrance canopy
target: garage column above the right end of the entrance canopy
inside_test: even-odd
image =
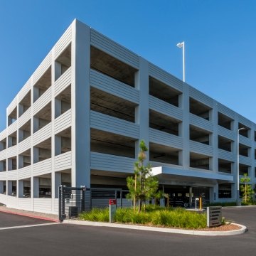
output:
[[[213,157],[210,161],[210,170],[218,172],[218,103],[213,102],[211,111],[211,122],[213,122],[213,134],[210,134],[210,145],[213,146]]]

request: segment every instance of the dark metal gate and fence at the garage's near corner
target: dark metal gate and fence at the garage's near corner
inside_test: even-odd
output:
[[[132,206],[125,196],[128,191],[120,188],[59,187],[59,219],[78,218],[79,213],[92,208],[109,207],[110,199],[117,200],[118,207]]]

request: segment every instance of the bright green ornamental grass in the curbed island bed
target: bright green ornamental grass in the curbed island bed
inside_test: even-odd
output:
[[[80,219],[109,222],[109,208],[92,209],[80,214]],[[132,208],[117,208],[115,221],[140,225],[154,225],[174,228],[198,229],[206,228],[206,213],[196,213],[183,208],[160,208],[147,206],[146,211],[134,213]]]

